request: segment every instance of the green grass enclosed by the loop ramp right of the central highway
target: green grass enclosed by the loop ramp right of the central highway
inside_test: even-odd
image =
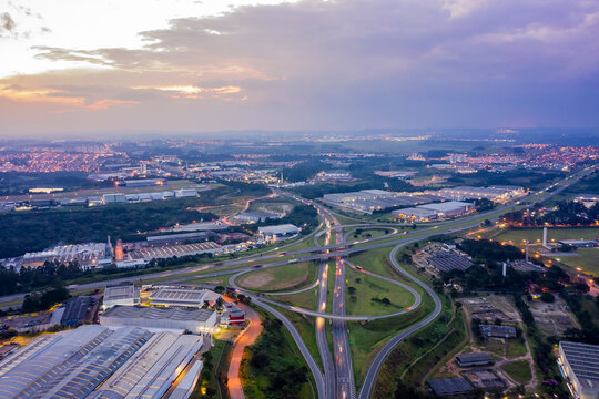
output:
[[[348,280],[345,287],[348,315],[385,315],[402,310],[414,304],[414,296],[393,283],[352,268],[347,268],[345,275]],[[351,291],[354,291],[354,294]],[[378,301],[384,298],[387,298],[390,304]]]

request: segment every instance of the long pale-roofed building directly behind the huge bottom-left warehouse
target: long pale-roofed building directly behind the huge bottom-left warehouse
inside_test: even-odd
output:
[[[191,332],[214,332],[216,311],[209,309],[160,308],[116,305],[100,316],[110,327],[142,327]]]

